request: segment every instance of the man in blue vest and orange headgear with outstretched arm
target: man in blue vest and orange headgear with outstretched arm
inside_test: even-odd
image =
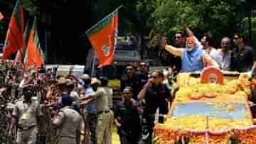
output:
[[[207,62],[208,66],[218,67],[217,62],[213,60],[201,47],[196,45],[193,36],[186,38],[185,48],[176,48],[167,45],[165,39],[161,40],[161,47],[173,55],[181,57],[181,71],[195,72],[203,69],[203,62]]]

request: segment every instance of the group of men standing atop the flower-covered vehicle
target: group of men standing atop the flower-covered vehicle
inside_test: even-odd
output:
[[[175,46],[161,39],[161,50],[169,52],[170,65],[179,72],[201,71],[214,66],[224,71],[253,72],[256,66],[255,50],[245,44],[245,36],[235,33],[233,38],[223,37],[220,48],[213,47],[213,35],[204,34],[201,41],[186,27],[187,37],[176,33]],[[177,60],[176,57],[181,57]],[[174,59],[175,58],[175,59]],[[181,67],[181,68],[180,68]]]

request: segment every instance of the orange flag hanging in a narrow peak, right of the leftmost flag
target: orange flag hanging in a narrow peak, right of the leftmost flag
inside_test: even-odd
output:
[[[35,29],[35,23],[36,21],[33,23],[31,28],[23,64],[25,68],[33,67],[38,70],[38,68],[41,68],[44,64],[45,55],[43,54],[43,50],[40,45],[38,32]]]

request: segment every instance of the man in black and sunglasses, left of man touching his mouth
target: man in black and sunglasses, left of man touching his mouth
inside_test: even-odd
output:
[[[124,88],[124,101],[114,107],[114,123],[121,144],[138,144],[141,138],[142,126],[139,114],[143,111],[137,101],[132,99],[132,87]]]

